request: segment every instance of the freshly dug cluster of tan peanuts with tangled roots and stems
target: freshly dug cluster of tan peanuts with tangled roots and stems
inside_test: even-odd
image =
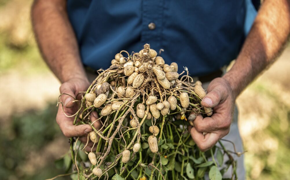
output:
[[[177,130],[180,127],[175,123],[183,124],[180,131],[187,133],[187,136],[182,141],[189,141],[190,134],[186,126],[193,125],[192,121],[197,115],[212,115],[212,109],[201,105],[206,92],[201,82],[193,82],[186,67],[179,74],[177,63],[165,64],[164,59],[157,56],[149,44],[131,55],[127,51],[117,53],[111,64],[110,68],[97,71],[97,78],[85,93],[81,93],[79,111],[75,114],[75,124],[93,127],[95,122],[91,122],[89,116],[93,111],[99,114],[97,120],[102,122],[100,129],[93,128],[94,131],[88,134],[88,142],[93,142],[91,151],[84,151],[88,142],[81,147],[91,163],[89,166],[82,165],[82,175],[86,179],[93,175],[109,177],[110,170],[115,169],[115,174],[122,176],[128,171],[126,168],[130,162],[135,161],[135,155],[140,154],[139,164],[143,164],[143,168],[151,168],[152,178],[152,167],[158,169],[158,164],[154,164],[156,155],[168,153],[164,150],[168,143],[160,148],[162,143],[167,139],[174,148],[180,148],[179,141],[183,137],[180,136],[179,141],[175,142],[171,126]],[[146,147],[149,147],[153,157],[151,163],[144,164],[141,154]],[[198,149],[191,151],[196,153]],[[72,154],[77,157],[77,152],[72,151]],[[79,163],[74,162],[75,166],[79,166]],[[120,169],[116,170],[119,163]],[[162,167],[161,164],[159,169],[162,170]],[[128,172],[127,177],[129,175]]]

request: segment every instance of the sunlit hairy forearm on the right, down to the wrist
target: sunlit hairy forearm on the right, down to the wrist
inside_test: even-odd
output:
[[[265,0],[225,78],[237,97],[283,50],[290,33],[290,1]]]

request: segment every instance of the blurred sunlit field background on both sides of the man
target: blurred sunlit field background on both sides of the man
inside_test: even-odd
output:
[[[59,82],[32,34],[32,0],[0,0],[0,179],[65,173],[55,122]],[[247,179],[290,179],[290,47],[238,98]],[[59,178],[65,179],[65,178]]]

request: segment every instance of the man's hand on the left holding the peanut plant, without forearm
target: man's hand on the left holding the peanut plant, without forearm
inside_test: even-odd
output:
[[[73,78],[68,80],[67,82],[64,82],[61,84],[61,87],[59,88],[60,93],[66,93],[68,95],[62,95],[61,96],[61,102],[63,102],[64,105],[64,112],[71,116],[75,114],[78,110],[78,104],[77,102],[73,102],[76,98],[77,94],[80,91],[86,91],[89,87],[89,82],[87,78]],[[86,143],[87,141],[87,135],[89,132],[93,131],[93,128],[90,125],[73,125],[73,121],[75,117],[66,117],[64,115],[64,112],[62,111],[62,105],[58,106],[56,121],[59,125],[59,128],[61,129],[61,132],[64,134],[64,136],[70,138],[70,137],[76,137],[76,136],[82,136],[80,140],[83,143]],[[94,121],[97,119],[97,113],[93,112],[90,116],[90,120]],[[96,129],[99,129],[101,127],[100,121],[97,121],[94,123],[94,127]],[[92,142],[88,144],[93,145]]]

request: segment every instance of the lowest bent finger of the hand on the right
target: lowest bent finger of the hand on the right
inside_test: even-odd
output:
[[[195,127],[191,128],[190,133],[193,141],[202,152],[205,152],[213,147],[218,142],[220,137],[217,133],[208,133],[204,136],[202,133],[197,132]]]

